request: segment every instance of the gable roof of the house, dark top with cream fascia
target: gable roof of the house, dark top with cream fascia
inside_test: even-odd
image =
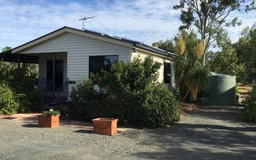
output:
[[[139,42],[139,41],[135,41],[135,40],[130,40],[130,39],[127,39],[127,38],[123,38],[123,37],[118,37],[118,36],[112,36],[112,35],[109,35],[109,34],[105,34],[105,33],[101,33],[101,32],[95,32],[95,31],[92,31],[92,30],[79,30],[79,29],[76,29],[76,28],[71,28],[71,27],[67,27],[67,26],[64,26],[60,29],[57,29],[53,32],[50,32],[46,35],[43,35],[39,38],[36,38],[34,40],[31,40],[27,43],[24,43],[23,45],[20,45],[18,47],[15,47],[15,48],[12,48],[11,50],[8,50],[6,52],[2,52],[0,54],[6,54],[6,53],[15,53],[19,50],[23,50],[25,48],[27,48],[27,46],[31,46],[31,45],[34,45],[36,43],[39,43],[37,41],[41,40],[41,39],[48,39],[47,37],[51,37],[52,35],[58,35],[58,34],[61,34],[63,32],[69,32],[69,31],[79,31],[81,33],[89,33],[89,34],[92,34],[92,35],[96,35],[96,36],[100,36],[100,37],[104,37],[104,38],[109,38],[109,39],[112,39],[112,40],[115,40],[115,41],[119,41],[119,42],[123,42],[124,44],[125,43],[128,43],[128,44],[132,44],[134,47],[138,47],[138,48],[142,48],[144,50],[148,50],[148,51],[151,51],[151,52],[154,52],[154,53],[157,53],[159,55],[164,55],[164,56],[168,56],[168,57],[172,57],[172,58],[177,58],[178,55],[175,55],[173,53],[170,53],[170,52],[167,52],[165,50],[161,50],[159,48],[155,48],[155,47],[152,47],[152,46],[149,46],[149,45],[146,45],[144,44],[143,42]]]

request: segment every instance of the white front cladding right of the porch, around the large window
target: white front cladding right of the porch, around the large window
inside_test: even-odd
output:
[[[118,55],[119,61],[130,61],[132,49],[90,37],[68,33],[68,77],[77,81],[89,77],[89,56]],[[71,91],[71,85],[69,85]]]

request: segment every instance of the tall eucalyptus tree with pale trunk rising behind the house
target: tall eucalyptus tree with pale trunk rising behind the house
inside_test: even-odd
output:
[[[173,6],[174,9],[180,9],[180,20],[183,25],[180,30],[187,29],[193,31],[197,28],[200,33],[200,39],[204,43],[204,54],[201,63],[204,66],[206,52],[209,46],[222,36],[225,27],[241,25],[238,18],[227,21],[227,17],[234,10],[239,10],[245,0],[180,0],[179,5]],[[255,0],[244,6],[246,12],[256,9]]]

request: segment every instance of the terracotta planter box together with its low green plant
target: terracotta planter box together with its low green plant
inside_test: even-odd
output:
[[[44,111],[38,116],[38,126],[54,128],[59,127],[60,112],[59,111]]]

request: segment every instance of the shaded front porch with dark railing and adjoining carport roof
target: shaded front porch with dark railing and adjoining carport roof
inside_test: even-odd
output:
[[[55,105],[68,100],[67,52],[12,54],[9,51],[0,54],[0,60],[39,64],[39,78],[34,88],[38,90],[43,105]]]

